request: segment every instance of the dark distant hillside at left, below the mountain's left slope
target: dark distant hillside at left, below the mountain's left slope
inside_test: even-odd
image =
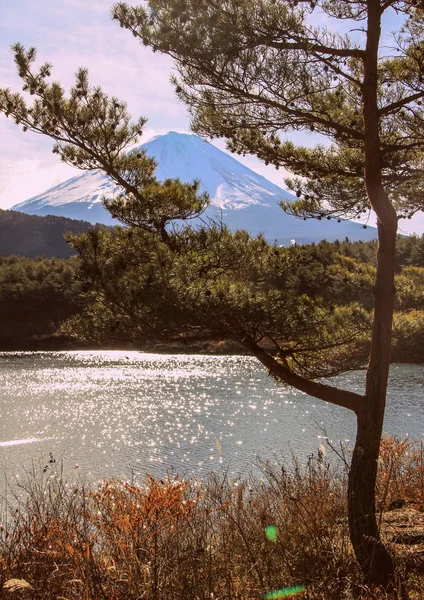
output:
[[[68,258],[75,251],[64,238],[65,233],[84,233],[92,227],[87,221],[48,215],[38,217],[13,210],[0,210],[0,254],[34,258],[47,256]]]

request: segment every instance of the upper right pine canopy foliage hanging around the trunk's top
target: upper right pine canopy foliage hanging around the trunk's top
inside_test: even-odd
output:
[[[194,131],[225,137],[230,150],[298,176],[286,180],[299,198],[283,203],[292,214],[369,212],[367,122],[378,121],[378,168],[405,218],[424,206],[422,7],[412,0],[381,6],[380,14],[403,13],[405,24],[393,39],[398,54],[382,52],[377,60],[378,111],[372,118],[364,112],[374,85],[374,79],[365,81],[371,47],[365,36],[314,25],[324,13],[360,28],[370,6],[346,0],[161,0],[148,7],[118,2],[112,17],[144,45],[175,59],[175,90],[189,107]],[[296,146],[283,137],[291,131],[314,132],[330,144]]]

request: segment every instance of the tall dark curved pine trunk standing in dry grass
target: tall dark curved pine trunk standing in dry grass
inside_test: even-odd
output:
[[[378,250],[371,352],[366,375],[365,403],[357,412],[357,436],[349,472],[348,515],[350,538],[366,583],[395,590],[395,563],[381,541],[377,523],[375,485],[390,363],[397,215],[382,185],[377,103],[381,31],[379,0],[368,0],[367,8],[363,80],[365,185],[371,207],[377,214]]]

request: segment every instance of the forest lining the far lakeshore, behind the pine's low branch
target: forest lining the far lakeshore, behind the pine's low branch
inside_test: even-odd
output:
[[[116,228],[113,232],[103,228],[102,231],[115,238],[124,232],[130,232],[124,228]],[[132,235],[136,236],[137,232],[133,231]],[[322,241],[290,248],[273,247],[263,240],[261,243],[277,255],[279,262],[290,261],[290,270],[278,285],[284,285],[294,300],[298,296],[307,295],[315,300],[319,298],[324,306],[346,306],[355,301],[365,311],[372,309],[375,242]],[[66,246],[71,247],[69,244]],[[109,258],[111,256],[112,254]],[[225,340],[225,331],[221,336],[214,332],[209,339],[207,331],[198,333],[199,339],[196,339],[195,334],[184,331],[183,327],[181,331],[173,331],[168,340],[166,334],[162,335],[158,330],[151,331],[146,336],[142,331],[141,320],[137,321],[137,311],[130,303],[131,294],[133,299],[138,297],[139,304],[145,301],[143,286],[140,284],[142,267],[145,265],[132,261],[128,256],[126,259],[127,262],[120,259],[118,271],[115,262],[114,274],[110,271],[104,273],[109,285],[113,278],[115,286],[118,286],[113,295],[110,287],[102,287],[99,281],[93,281],[78,256],[63,259],[7,256],[6,253],[0,255],[0,348],[132,345],[140,349],[156,347],[166,350],[171,347],[175,351],[214,352],[230,349],[243,352],[240,345],[220,344]],[[399,237],[396,271],[392,360],[422,362],[424,236]],[[127,287],[125,292],[119,286],[126,285],[124,281],[129,274],[135,283],[131,288]],[[153,276],[151,277],[151,297],[156,301],[158,290],[153,285]],[[119,306],[116,294],[119,295]],[[96,320],[96,314],[98,317],[100,310],[103,313],[101,324],[98,318]],[[113,318],[107,318],[108,314],[113,314]],[[128,314],[132,314],[132,318]],[[362,358],[366,360],[366,348]]]

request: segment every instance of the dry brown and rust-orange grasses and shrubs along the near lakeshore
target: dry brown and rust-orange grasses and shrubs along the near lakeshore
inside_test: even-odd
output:
[[[422,444],[383,441],[381,531],[416,600],[424,597],[423,463]],[[65,483],[51,459],[24,491],[24,499],[3,501],[3,597],[253,600],[291,586],[305,586],[305,599],[384,597],[362,585],[346,470],[322,453],[303,468],[264,465],[262,478],[247,481],[147,476],[95,490]],[[269,525],[275,541],[265,535]]]

